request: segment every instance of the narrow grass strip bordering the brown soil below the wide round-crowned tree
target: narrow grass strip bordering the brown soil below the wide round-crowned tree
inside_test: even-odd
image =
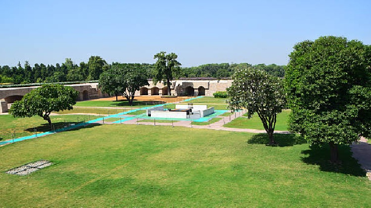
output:
[[[154,104],[159,104],[159,102],[152,102],[152,101],[134,101],[134,107],[146,107]],[[75,104],[76,106],[82,107],[119,107],[125,106],[130,107],[129,103],[126,100],[119,100],[119,101],[81,101]]]

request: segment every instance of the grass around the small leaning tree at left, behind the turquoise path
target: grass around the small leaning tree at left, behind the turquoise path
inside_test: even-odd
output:
[[[69,123],[81,123],[84,120],[88,121],[97,118],[93,115],[55,115],[50,116],[51,123],[54,129],[63,128]],[[78,121],[79,120],[79,121]],[[35,132],[50,131],[50,127],[46,120],[40,116],[31,118],[14,118],[12,115],[0,115],[0,138],[2,140],[12,139],[12,133],[15,132],[15,137],[24,137],[33,135]]]

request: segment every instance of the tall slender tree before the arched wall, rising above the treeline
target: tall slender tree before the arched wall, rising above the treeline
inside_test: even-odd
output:
[[[157,61],[155,63],[156,70],[153,83],[163,81],[164,85],[168,87],[168,95],[170,96],[170,81],[173,80],[173,72],[176,72],[182,64],[177,61],[178,55],[173,52],[169,54],[159,52],[154,55],[154,58],[157,58]]]

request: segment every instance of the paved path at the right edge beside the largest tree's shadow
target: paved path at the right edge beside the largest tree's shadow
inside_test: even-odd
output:
[[[353,143],[350,147],[352,148],[353,157],[366,170],[367,177],[371,180],[371,145],[362,137],[358,143]]]

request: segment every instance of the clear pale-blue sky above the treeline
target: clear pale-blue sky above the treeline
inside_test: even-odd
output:
[[[285,65],[295,43],[343,36],[371,44],[371,0],[0,0],[0,65]]]

